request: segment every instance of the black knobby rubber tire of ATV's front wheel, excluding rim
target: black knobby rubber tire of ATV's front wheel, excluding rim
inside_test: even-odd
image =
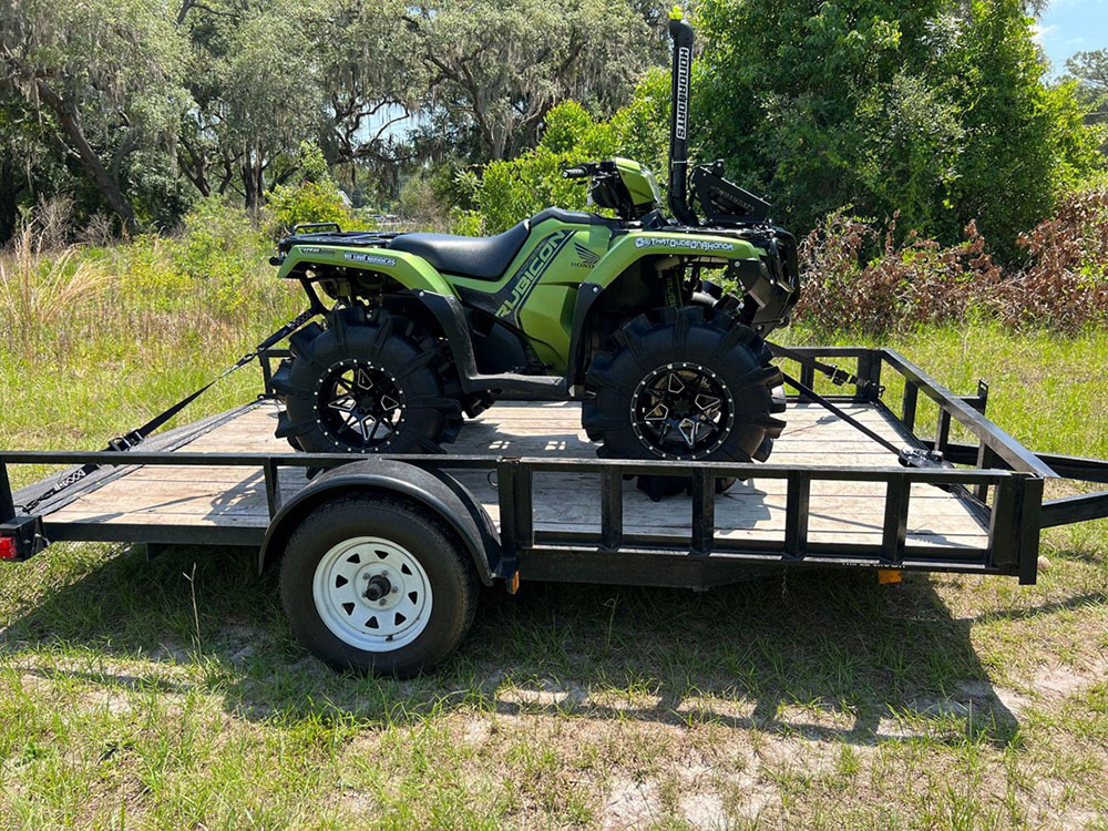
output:
[[[733,422],[705,461],[766,461],[784,429],[783,377],[750,327],[702,305],[655,309],[628,321],[598,351],[585,377],[582,425],[604,458],[659,459],[632,424],[634,394],[650,372],[691,362],[714,372],[730,396]],[[674,456],[667,456],[674,458]],[[700,456],[698,456],[699,459]]]

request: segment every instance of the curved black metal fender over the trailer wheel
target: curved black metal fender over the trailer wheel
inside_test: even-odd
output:
[[[461,540],[478,576],[492,585],[500,565],[500,535],[472,494],[452,476],[394,459],[366,459],[316,476],[273,517],[258,552],[258,572],[276,563],[296,526],[328,499],[351,491],[392,494],[433,512]]]

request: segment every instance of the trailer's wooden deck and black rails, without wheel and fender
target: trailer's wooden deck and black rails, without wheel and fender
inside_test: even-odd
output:
[[[1043,502],[1047,479],[1108,482],[1108,463],[1027,450],[985,417],[986,388],[955,396],[889,349],[798,351],[855,366],[853,392],[829,400],[909,447],[972,466],[899,466],[879,445],[835,433],[833,420],[801,398],[791,400],[796,438],[782,438],[778,451],[796,463],[758,465],[597,460],[586,440],[570,435],[576,404],[535,406],[551,408],[535,414],[514,403],[464,428],[476,444],[458,454],[393,456],[389,470],[401,473],[388,481],[402,491],[402,471],[420,468],[450,483],[484,529],[486,582],[706,588],[740,579],[750,566],[837,566],[1010,575],[1027,584],[1036,578],[1042,529],[1108,516],[1108,493]],[[291,453],[271,439],[270,367],[285,355],[270,349],[259,357],[266,394],[258,401],[151,439],[127,451],[125,465],[116,452],[0,451],[0,536],[14,541],[9,547],[20,558],[49,542],[83,540],[244,545],[260,547],[265,562],[304,489],[304,471],[361,461]],[[902,384],[896,412],[878,397],[883,371],[894,376],[884,379],[890,387]],[[815,380],[811,366],[799,373],[809,386]],[[915,432],[921,393],[936,407],[930,437]],[[953,441],[955,424],[971,439]],[[830,453],[813,454],[829,441]],[[516,447],[525,454],[504,452]],[[105,466],[35,515],[17,511],[57,478],[13,494],[11,465],[88,463]],[[625,481],[632,475],[687,476],[691,495],[644,506]],[[717,496],[721,478],[747,482]],[[854,507],[843,510],[844,500]]]

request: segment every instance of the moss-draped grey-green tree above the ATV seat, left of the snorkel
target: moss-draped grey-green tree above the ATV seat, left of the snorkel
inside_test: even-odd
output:
[[[443,0],[413,7],[407,22],[431,109],[472,129],[486,158],[534,146],[560,101],[612,112],[660,54],[627,0]]]

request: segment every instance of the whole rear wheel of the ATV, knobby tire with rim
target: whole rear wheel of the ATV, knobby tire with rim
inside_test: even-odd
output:
[[[384,309],[339,309],[289,338],[273,386],[277,438],[309,453],[441,453],[462,423],[456,381],[434,338]]]

